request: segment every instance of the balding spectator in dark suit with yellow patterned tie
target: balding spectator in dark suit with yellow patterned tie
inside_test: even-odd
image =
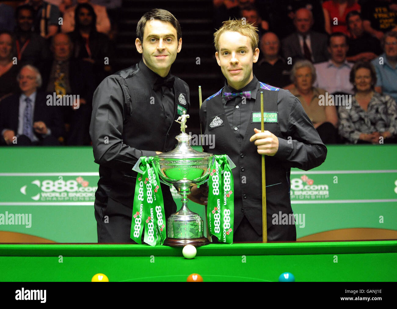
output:
[[[79,95],[79,108],[62,106],[66,124],[66,145],[90,145],[90,119],[92,98],[95,90],[91,63],[71,58],[73,46],[69,36],[58,33],[53,36],[52,61],[42,64],[42,90],[56,95]]]

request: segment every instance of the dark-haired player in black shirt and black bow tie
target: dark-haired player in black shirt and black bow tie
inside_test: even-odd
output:
[[[142,60],[106,77],[94,93],[90,135],[99,164],[95,218],[98,242],[130,238],[137,173],[141,156],[172,150],[180,126],[174,120],[189,111],[189,87],[170,73],[181,50],[181,27],[166,10],[143,15],[135,40]],[[166,217],[176,211],[168,186],[161,184]]]

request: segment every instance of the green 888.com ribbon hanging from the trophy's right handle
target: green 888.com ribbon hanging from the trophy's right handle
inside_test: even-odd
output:
[[[208,229],[220,242],[233,242],[233,174],[226,155],[214,155],[208,180]]]

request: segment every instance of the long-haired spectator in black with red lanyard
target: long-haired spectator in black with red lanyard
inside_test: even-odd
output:
[[[110,65],[104,64],[105,57],[112,60],[109,39],[95,28],[96,15],[87,3],[79,4],[75,13],[75,30],[68,33],[74,47],[74,58],[89,61],[94,66],[96,85],[110,74]]]

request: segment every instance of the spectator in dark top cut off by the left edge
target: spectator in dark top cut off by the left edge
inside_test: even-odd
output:
[[[14,38],[8,31],[0,32],[0,100],[18,91]],[[1,113],[1,111],[0,111]]]

